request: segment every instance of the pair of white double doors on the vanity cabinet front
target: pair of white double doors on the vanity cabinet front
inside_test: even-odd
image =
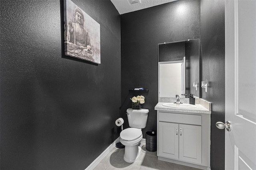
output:
[[[159,138],[159,156],[201,163],[201,126],[159,122]]]

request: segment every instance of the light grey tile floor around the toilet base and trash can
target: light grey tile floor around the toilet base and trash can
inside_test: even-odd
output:
[[[134,163],[124,161],[124,148],[114,147],[94,170],[199,170],[158,160],[156,152],[146,150],[145,143],[140,143],[140,147],[142,148],[140,158]]]

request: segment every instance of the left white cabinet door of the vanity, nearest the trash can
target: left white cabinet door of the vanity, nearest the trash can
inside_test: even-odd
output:
[[[159,122],[159,156],[179,158],[179,124]]]

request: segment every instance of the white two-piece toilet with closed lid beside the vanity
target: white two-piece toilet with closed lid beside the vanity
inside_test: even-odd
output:
[[[126,114],[130,128],[120,133],[120,142],[125,146],[124,160],[132,163],[140,158],[141,148],[138,146],[142,139],[142,128],[146,127],[148,109],[127,109]]]

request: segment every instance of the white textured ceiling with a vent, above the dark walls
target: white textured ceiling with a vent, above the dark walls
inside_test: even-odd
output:
[[[157,6],[157,5],[165,4],[172,1],[175,1],[175,0],[111,0],[111,2],[114,4],[119,14],[134,12],[134,11],[150,8],[152,6]],[[132,3],[132,5],[130,5],[129,2]]]

